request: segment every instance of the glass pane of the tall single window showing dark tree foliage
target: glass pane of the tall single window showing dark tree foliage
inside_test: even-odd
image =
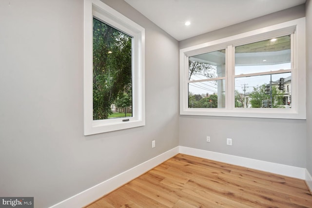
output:
[[[132,116],[132,37],[93,19],[93,120]]]

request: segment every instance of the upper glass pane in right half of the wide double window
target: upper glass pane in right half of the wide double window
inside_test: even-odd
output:
[[[291,37],[235,47],[235,75],[291,69]]]

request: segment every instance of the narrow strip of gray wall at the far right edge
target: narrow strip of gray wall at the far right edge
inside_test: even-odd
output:
[[[312,174],[312,1],[306,2],[307,30],[307,169]]]

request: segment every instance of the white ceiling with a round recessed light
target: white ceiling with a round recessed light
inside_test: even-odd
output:
[[[177,40],[305,3],[306,0],[125,0]],[[185,26],[185,21],[191,25]]]

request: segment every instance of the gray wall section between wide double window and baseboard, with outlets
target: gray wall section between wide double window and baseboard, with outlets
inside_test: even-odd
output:
[[[305,120],[180,116],[180,145],[305,168]],[[206,142],[210,136],[210,143]],[[232,138],[233,145],[226,145]]]

